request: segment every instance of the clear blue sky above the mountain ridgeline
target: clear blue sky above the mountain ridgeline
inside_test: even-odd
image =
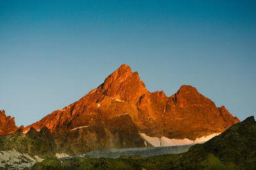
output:
[[[193,85],[256,113],[256,1],[0,1],[0,110],[29,125],[121,64],[151,92]]]

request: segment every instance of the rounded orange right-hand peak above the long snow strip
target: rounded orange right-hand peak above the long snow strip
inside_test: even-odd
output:
[[[239,120],[200,94],[195,87],[182,85],[169,97],[164,113],[164,130],[168,138],[190,139],[225,131]]]

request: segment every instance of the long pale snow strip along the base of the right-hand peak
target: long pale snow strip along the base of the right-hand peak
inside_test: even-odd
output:
[[[219,135],[220,133],[211,134],[209,136],[204,136],[202,138],[196,138],[195,141],[192,141],[188,138],[184,139],[170,139],[162,136],[161,138],[150,137],[144,133],[140,133],[141,138],[150,143],[153,146],[177,146],[177,145],[190,145],[196,143],[203,143],[213,138],[214,136]]]

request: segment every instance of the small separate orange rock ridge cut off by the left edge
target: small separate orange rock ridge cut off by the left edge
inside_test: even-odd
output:
[[[6,117],[5,111],[0,110],[0,136],[17,131],[18,127],[15,125],[14,117]]]

